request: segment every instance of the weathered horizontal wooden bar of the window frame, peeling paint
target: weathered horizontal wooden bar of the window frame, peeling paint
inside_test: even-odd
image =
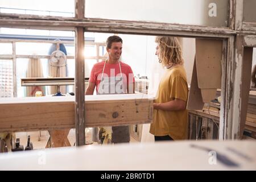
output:
[[[3,27],[22,26],[27,28],[39,29],[63,29],[70,30],[74,27],[84,27],[86,31],[95,32],[115,32],[127,34],[148,34],[148,35],[180,35],[184,36],[215,36],[226,37],[226,35],[235,35],[238,32],[230,30],[227,27],[207,27],[207,26],[191,26],[184,24],[158,23],[158,22],[142,22],[128,20],[111,20],[97,18],[53,18],[42,16],[24,16],[13,14],[0,14],[0,25]],[[247,34],[256,34],[254,31]]]

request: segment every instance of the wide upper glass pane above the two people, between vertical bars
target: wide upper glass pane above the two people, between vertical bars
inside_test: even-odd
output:
[[[228,0],[86,0],[85,3],[86,18],[219,27],[226,27],[228,22]]]

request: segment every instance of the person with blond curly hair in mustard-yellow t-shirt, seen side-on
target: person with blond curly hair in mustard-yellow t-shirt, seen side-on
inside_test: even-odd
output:
[[[166,67],[154,101],[154,119],[150,133],[159,140],[188,138],[188,84],[181,47],[177,38],[157,36],[156,55]]]

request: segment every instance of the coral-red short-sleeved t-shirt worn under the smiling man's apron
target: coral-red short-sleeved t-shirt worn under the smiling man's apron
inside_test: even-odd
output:
[[[128,88],[128,85],[134,82],[133,71],[131,70],[131,67],[128,64],[122,63],[121,61],[119,63],[121,66],[123,84],[127,84],[127,88]],[[104,77],[105,76],[108,76],[108,77],[121,76],[119,63],[117,62],[115,64],[109,64],[107,62],[105,65],[103,76]],[[98,86],[100,85],[100,82],[101,82],[101,76],[102,76],[104,64],[105,64],[105,61],[101,61],[100,63],[94,64],[92,71],[90,72],[89,82],[93,82],[94,84],[96,84],[97,93],[98,93]]]

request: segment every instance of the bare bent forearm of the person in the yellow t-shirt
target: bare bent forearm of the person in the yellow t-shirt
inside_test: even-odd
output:
[[[164,103],[154,103],[154,109],[160,110],[184,110],[186,109],[186,102],[183,100],[175,99],[173,101],[168,101]]]

